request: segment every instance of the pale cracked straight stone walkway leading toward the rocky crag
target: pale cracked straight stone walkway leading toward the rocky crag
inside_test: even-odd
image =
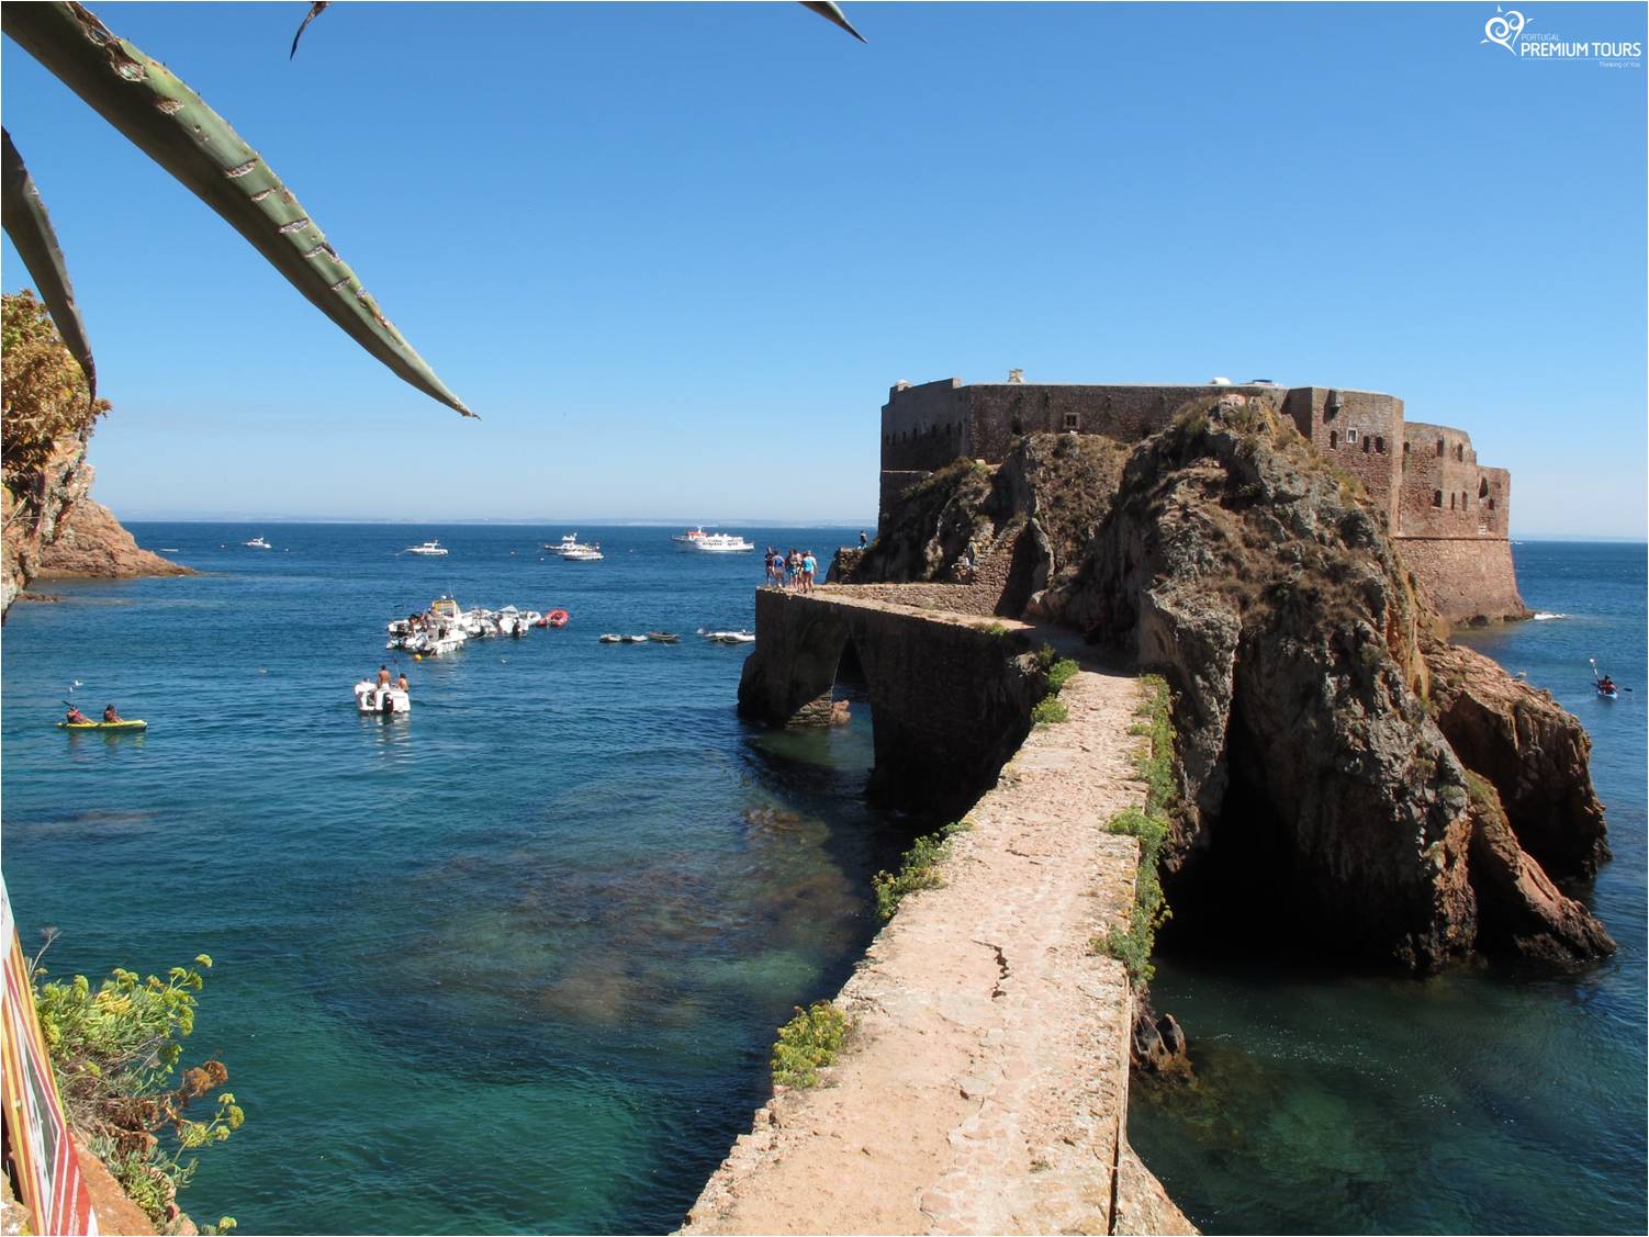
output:
[[[757,1112],[683,1232],[1194,1232],[1128,1151],[1131,996],[1090,945],[1133,899],[1103,825],[1144,797],[1138,683],[1090,666],[1060,699],[836,998],[836,1065]]]

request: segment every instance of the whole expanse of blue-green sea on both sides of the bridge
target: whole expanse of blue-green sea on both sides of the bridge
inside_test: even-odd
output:
[[[196,1219],[246,1232],[660,1232],[767,1097],[793,1004],[876,929],[869,874],[917,821],[861,797],[869,711],[734,714],[760,557],[674,529],[134,524],[203,576],[53,584],[3,637],[5,877],[54,975],[216,967],[186,1061],[246,1126]],[[857,529],[737,529],[828,561]],[[242,541],[264,534],[274,551]],[[427,538],[445,559],[397,551]],[[1644,1227],[1644,548],[1529,543],[1562,618],[1468,637],[1593,734],[1621,943],[1580,975],[1334,978],[1166,958],[1197,1082],[1136,1087],[1144,1159],[1209,1232]],[[559,632],[399,663],[439,594],[566,607]],[[600,645],[668,628],[676,647]],[[1636,693],[1613,706],[1588,656]],[[359,717],[388,661],[409,717]],[[63,698],[143,736],[69,736]],[[844,1183],[851,1188],[851,1183]]]

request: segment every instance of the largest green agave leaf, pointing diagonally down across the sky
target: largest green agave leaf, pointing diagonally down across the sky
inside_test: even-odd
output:
[[[310,303],[407,383],[475,416],[394,328],[294,193],[175,73],[78,3],[12,3],[0,28],[211,206]]]

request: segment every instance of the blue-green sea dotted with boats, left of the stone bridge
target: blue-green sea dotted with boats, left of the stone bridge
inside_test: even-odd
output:
[[[54,975],[211,953],[190,1059],[247,1123],[185,1202],[247,1232],[660,1232],[767,1098],[792,1006],[874,932],[910,826],[861,800],[867,706],[734,716],[759,554],[660,528],[134,524],[209,574],[53,586],[3,640],[5,877]],[[742,529],[829,549],[857,529]],[[265,534],[274,551],[246,549]],[[427,538],[445,559],[397,556]],[[350,686],[452,592],[564,630]],[[600,645],[674,630],[676,647]],[[145,736],[53,729],[73,680]],[[887,828],[874,828],[877,823]]]

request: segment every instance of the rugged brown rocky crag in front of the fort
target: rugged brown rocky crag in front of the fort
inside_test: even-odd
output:
[[[1229,935],[1224,899],[1240,891],[1252,930],[1416,970],[1474,950],[1613,948],[1550,879],[1608,854],[1585,734],[1440,638],[1355,480],[1261,397],[1187,407],[1125,463],[1111,444],[1115,482],[1090,467],[1080,493],[1027,463],[1093,439],[1047,437],[994,475],[937,473],[856,574],[933,579],[968,529],[988,561],[1029,562],[1004,612],[1029,607],[1164,673],[1177,917],[1220,905],[1209,927]]]

